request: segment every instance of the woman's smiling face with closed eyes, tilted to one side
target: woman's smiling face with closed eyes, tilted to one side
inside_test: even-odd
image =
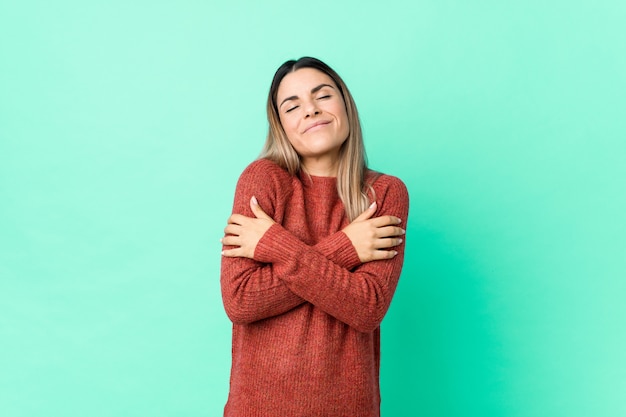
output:
[[[350,128],[346,105],[332,78],[313,68],[291,72],[278,86],[276,104],[287,138],[309,172],[315,175],[314,166],[336,167]]]

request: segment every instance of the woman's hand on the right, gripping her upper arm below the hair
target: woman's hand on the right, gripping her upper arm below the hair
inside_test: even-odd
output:
[[[385,249],[402,243],[400,236],[405,233],[404,229],[397,226],[401,222],[398,217],[380,216],[372,219],[374,213],[376,202],[342,230],[352,242],[361,262],[393,258],[398,252]]]

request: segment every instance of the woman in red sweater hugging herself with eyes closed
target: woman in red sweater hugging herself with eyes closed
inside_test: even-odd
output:
[[[406,187],[367,169],[352,96],[323,62],[285,62],[267,114],[222,239],[224,415],[379,416],[379,325],[402,269]]]

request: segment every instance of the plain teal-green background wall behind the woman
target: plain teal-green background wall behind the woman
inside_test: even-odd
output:
[[[0,3],[0,415],[217,416],[219,238],[317,56],[407,184],[383,415],[626,415],[626,3]]]

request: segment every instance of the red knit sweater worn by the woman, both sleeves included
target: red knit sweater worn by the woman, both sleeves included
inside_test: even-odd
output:
[[[373,178],[373,177],[370,177]],[[248,258],[222,258],[233,322],[226,417],[380,415],[380,322],[396,289],[404,243],[390,260],[361,263],[333,177],[291,176],[268,160],[241,174],[233,213],[250,198],[276,224]],[[408,194],[395,177],[373,183],[378,211],[406,227]]]

